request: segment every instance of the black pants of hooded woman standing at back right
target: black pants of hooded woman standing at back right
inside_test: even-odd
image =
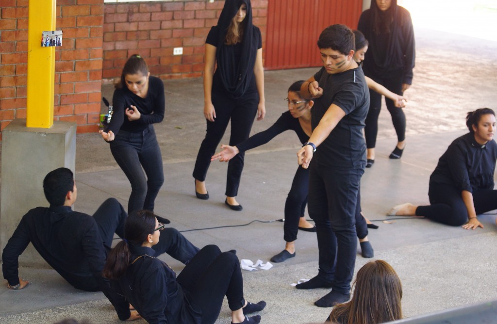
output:
[[[404,78],[403,71],[394,71],[385,77],[378,77],[368,75],[369,78],[383,85],[390,91],[402,95],[402,81]],[[369,90],[369,111],[366,117],[366,127],[364,127],[364,135],[366,137],[366,147],[374,149],[376,146],[376,135],[378,134],[378,116],[381,109],[382,95],[374,90]],[[406,115],[402,108],[397,108],[394,102],[385,98],[387,109],[392,116],[392,123],[394,124],[395,132],[397,133],[397,140],[402,142],[406,139]]]

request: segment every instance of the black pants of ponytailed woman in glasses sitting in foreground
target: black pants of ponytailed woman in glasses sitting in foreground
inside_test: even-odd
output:
[[[232,311],[245,305],[244,283],[238,257],[204,246],[177,277],[185,295],[202,312],[202,324],[213,324],[221,312],[224,296]]]

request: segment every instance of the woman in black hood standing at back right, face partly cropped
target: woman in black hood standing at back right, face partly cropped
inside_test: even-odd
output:
[[[357,27],[369,41],[363,70],[366,77],[402,95],[413,81],[414,30],[409,11],[397,5],[397,0],[371,0],[371,8],[359,18]],[[374,163],[381,94],[370,90],[370,106],[364,133],[366,136],[368,166]],[[397,146],[390,159],[400,159],[406,147],[406,115],[386,98],[397,133]]]

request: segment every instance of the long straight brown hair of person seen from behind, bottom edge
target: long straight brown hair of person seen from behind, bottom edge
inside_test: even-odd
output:
[[[357,272],[352,299],[331,311],[331,322],[377,324],[402,319],[402,282],[386,261],[366,263]]]

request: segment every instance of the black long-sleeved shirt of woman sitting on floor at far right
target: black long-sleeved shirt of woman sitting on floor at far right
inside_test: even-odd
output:
[[[497,143],[478,144],[472,133],[454,140],[438,160],[430,176],[430,184],[449,184],[471,193],[494,189]]]

